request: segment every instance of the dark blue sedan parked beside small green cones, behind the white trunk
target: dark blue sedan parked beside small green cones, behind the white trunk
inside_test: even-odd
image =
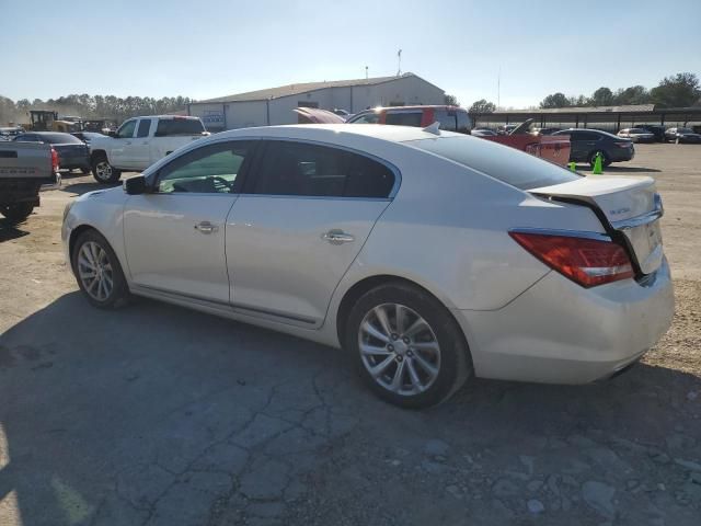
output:
[[[612,162],[630,161],[635,157],[635,147],[630,139],[622,139],[599,129],[570,128],[552,134],[570,136],[570,161],[588,162],[594,167],[597,153],[605,167]]]

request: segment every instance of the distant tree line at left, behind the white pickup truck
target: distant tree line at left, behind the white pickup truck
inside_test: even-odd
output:
[[[114,96],[71,94],[58,99],[21,99],[13,101],[0,95],[0,125],[7,123],[26,124],[31,110],[51,110],[59,115],[76,115],[83,118],[106,118],[122,123],[137,115],[158,115],[174,113],[187,108],[194,102],[188,96]]]

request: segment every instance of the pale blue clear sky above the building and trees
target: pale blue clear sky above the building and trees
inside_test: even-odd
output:
[[[462,105],[496,102],[501,69],[502,106],[524,107],[701,76],[700,22],[700,0],[0,0],[0,94],[206,99],[394,75],[401,48]]]

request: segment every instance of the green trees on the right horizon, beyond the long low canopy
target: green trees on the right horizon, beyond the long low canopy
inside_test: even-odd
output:
[[[455,100],[455,98],[452,99]],[[651,90],[636,84],[616,91],[602,85],[590,96],[567,96],[562,92],[556,92],[545,96],[539,107],[622,106],[629,104],[655,104],[662,107],[701,106],[701,84],[694,73],[677,73],[665,77],[659,84]],[[479,114],[492,113],[495,110],[496,105],[493,102],[481,99],[472,103],[469,111]]]

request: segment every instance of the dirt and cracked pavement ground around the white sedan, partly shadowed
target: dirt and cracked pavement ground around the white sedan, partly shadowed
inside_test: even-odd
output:
[[[582,167],[584,168],[584,167]],[[342,353],[152,301],[62,261],[69,178],[0,227],[0,525],[701,524],[701,147],[643,145],[677,313],[627,374],[374,399]]]

